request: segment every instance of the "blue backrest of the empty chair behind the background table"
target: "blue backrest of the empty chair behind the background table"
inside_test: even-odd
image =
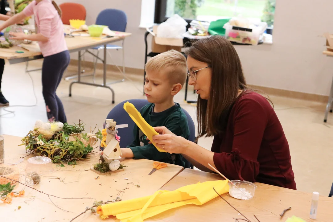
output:
[[[126,13],[118,9],[104,9],[98,14],[96,25],[107,25],[110,30],[125,32],[127,26]]]

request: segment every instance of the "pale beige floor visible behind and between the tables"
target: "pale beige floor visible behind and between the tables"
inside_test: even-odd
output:
[[[30,69],[39,68],[41,61],[31,62]],[[66,75],[75,73],[76,68],[70,67]],[[37,119],[46,121],[45,104],[41,90],[41,72],[30,73],[37,96],[37,105],[34,107],[14,107],[16,105],[34,105],[32,82],[28,74],[24,73],[24,64],[7,65],[2,81],[3,94],[11,106],[7,110],[15,111],[12,114],[0,117],[0,134],[25,136],[33,127]],[[145,98],[142,95],[142,76],[127,75],[133,80],[111,85],[116,92],[116,104],[126,99]],[[111,75],[109,80],[121,79],[121,76]],[[91,80],[85,77],[85,80]],[[97,81],[102,81],[97,78]],[[72,97],[68,97],[67,81],[62,81],[58,88],[68,122],[78,122],[79,119],[87,125],[101,128],[108,112],[114,107],[111,92],[108,89],[74,85]],[[190,90],[189,90],[190,92]],[[194,99],[192,93],[189,96]],[[195,107],[183,101],[184,91],[175,97],[182,108],[188,111],[195,120]],[[318,191],[326,196],[333,181],[333,114],[329,115],[328,122],[323,123],[326,104],[295,100],[283,97],[270,96],[275,111],[282,123],[287,136],[293,170],[297,188],[300,191]],[[7,113],[0,108],[0,115]],[[212,138],[200,138],[199,145],[210,149]],[[326,171],[326,172],[325,172]]]

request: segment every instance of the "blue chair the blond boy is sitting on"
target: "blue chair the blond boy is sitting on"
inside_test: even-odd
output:
[[[128,124],[128,128],[119,128],[118,129],[118,135],[121,137],[120,139],[120,147],[126,147],[132,143],[134,140],[133,136],[133,128],[134,128],[134,121],[131,119],[131,117],[127,114],[127,112],[124,110],[124,103],[130,102],[132,103],[137,110],[141,110],[145,105],[147,105],[149,102],[147,100],[143,99],[133,99],[133,100],[126,100],[124,102],[121,102],[117,106],[115,106],[107,115],[107,119],[115,119],[117,124]],[[194,122],[191,118],[191,116],[188,114],[187,111],[182,109],[182,111],[186,114],[188,127],[190,131],[190,136],[188,140],[194,142],[195,140],[195,127]],[[183,161],[185,162],[185,168],[191,168],[193,169],[193,165],[187,161],[185,158],[183,158]]]

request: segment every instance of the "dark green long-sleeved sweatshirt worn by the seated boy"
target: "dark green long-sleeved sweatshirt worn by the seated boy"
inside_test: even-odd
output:
[[[153,127],[166,126],[166,128],[177,136],[188,139],[189,128],[187,117],[178,103],[175,103],[173,107],[162,112],[154,112],[153,110],[154,104],[147,104],[140,110],[142,117],[148,124]],[[150,159],[179,166],[185,165],[182,160],[183,157],[180,154],[159,152],[153,144],[149,144],[147,136],[137,125],[134,125],[133,133],[134,141],[127,147],[133,151],[134,159]]]

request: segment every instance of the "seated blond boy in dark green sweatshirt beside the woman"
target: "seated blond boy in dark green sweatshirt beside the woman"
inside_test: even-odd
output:
[[[150,104],[144,106],[140,113],[153,127],[166,126],[174,134],[186,139],[189,137],[187,117],[173,97],[180,92],[186,81],[186,58],[175,50],[161,53],[151,58],[146,64],[146,83],[144,91]],[[122,157],[134,159],[151,159],[184,166],[180,154],[159,152],[149,144],[147,136],[134,126],[134,141],[122,149]]]

